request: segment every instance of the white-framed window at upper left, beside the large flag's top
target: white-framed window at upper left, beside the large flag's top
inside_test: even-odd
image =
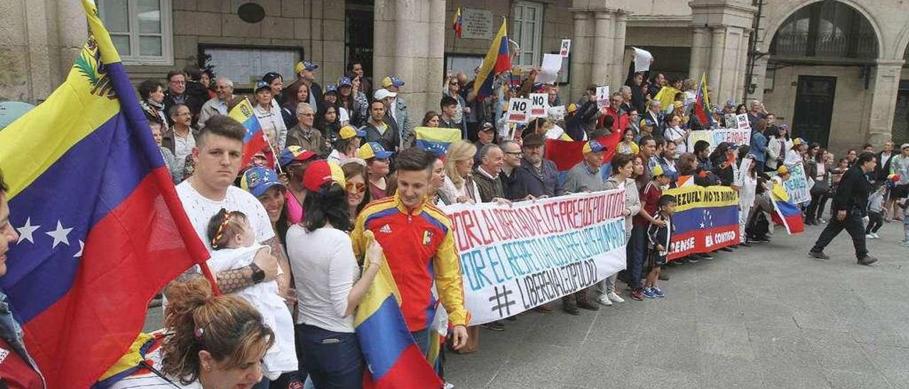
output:
[[[171,0],[101,0],[98,8],[124,64],[174,64]]]

